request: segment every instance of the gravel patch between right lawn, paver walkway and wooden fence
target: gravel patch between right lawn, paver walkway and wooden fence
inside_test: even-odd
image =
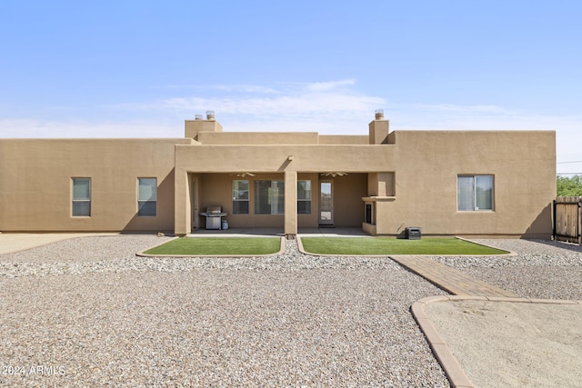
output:
[[[474,241],[517,255],[435,260],[522,297],[582,300],[581,246],[541,240]]]

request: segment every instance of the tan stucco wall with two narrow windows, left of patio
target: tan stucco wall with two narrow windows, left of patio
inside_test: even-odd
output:
[[[174,150],[186,139],[0,140],[0,231],[174,229]],[[91,178],[91,216],[71,216],[71,178]],[[137,217],[137,178],[157,179]]]

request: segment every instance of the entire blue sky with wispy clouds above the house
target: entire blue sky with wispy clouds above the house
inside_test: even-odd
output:
[[[4,0],[0,137],[557,131],[582,174],[582,2]]]

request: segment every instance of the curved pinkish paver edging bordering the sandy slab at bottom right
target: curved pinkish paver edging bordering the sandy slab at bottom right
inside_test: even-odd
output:
[[[412,304],[410,311],[414,316],[420,330],[425,334],[426,342],[430,345],[433,353],[441,364],[451,386],[457,388],[475,388],[475,385],[468,379],[467,374],[457,362],[457,359],[448,349],[447,343],[437,332],[437,328],[430,321],[425,313],[425,305],[436,302],[455,302],[455,301],[485,301],[485,302],[513,302],[513,303],[549,303],[549,304],[582,304],[582,301],[574,300],[557,300],[557,299],[533,299],[533,298],[505,298],[498,296],[463,296],[463,295],[440,295],[429,296],[420,299]]]

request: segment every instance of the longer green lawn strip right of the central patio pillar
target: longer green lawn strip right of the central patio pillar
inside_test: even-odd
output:
[[[506,251],[457,238],[301,237],[301,243],[305,251],[311,254],[507,254]]]

